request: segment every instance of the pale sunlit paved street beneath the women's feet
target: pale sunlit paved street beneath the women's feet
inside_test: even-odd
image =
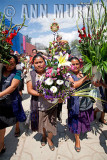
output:
[[[30,96],[26,87],[23,92],[23,107],[29,112]],[[98,119],[99,115],[97,115]],[[107,114],[106,114],[107,119]],[[62,124],[58,122],[57,136],[53,138],[55,151],[51,151],[48,144],[42,147],[41,135],[31,132],[25,124],[20,124],[21,135],[14,137],[14,127],[6,130],[6,152],[0,160],[107,160],[107,126],[95,120],[92,131],[81,135],[81,152],[74,149],[74,136],[67,129],[67,109],[63,105]]]

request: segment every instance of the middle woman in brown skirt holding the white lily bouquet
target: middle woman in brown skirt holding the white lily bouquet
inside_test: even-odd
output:
[[[45,59],[41,54],[33,58],[35,70],[27,75],[27,90],[32,95],[31,98],[31,128],[33,131],[38,130],[42,134],[41,145],[45,146],[48,141],[49,148],[54,151],[55,147],[52,142],[53,135],[56,135],[56,116],[57,108],[49,103],[36,90],[36,82],[43,81],[45,76]],[[49,109],[49,110],[48,110]],[[46,136],[46,132],[48,136]]]

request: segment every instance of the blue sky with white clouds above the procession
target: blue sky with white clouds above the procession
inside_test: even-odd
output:
[[[62,39],[69,43],[78,39],[78,11],[81,13],[83,6],[83,15],[87,17],[89,2],[90,0],[0,0],[0,12],[5,13],[9,20],[12,17],[14,24],[22,23],[25,14],[27,27],[23,27],[20,32],[31,37],[32,44],[42,43],[48,47],[54,39],[50,30],[54,21],[59,24],[58,34]],[[96,5],[95,0],[93,3]],[[78,25],[82,27],[81,16]]]

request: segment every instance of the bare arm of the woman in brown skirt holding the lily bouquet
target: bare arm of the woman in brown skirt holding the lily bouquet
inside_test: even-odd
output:
[[[42,96],[42,94],[38,93],[36,90],[33,89],[31,81],[27,82],[27,91],[29,94],[31,94],[33,96]]]

